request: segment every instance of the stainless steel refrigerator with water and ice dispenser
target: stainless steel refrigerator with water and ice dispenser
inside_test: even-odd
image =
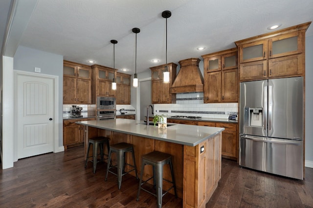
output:
[[[239,165],[303,180],[303,77],[240,83]]]

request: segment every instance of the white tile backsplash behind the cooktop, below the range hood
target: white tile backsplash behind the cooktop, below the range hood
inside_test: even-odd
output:
[[[238,103],[204,104],[203,93],[180,93],[176,104],[155,104],[156,114],[168,116],[201,116],[202,118],[227,119],[230,114],[238,114]]]

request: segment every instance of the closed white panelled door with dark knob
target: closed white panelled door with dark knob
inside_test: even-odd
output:
[[[18,159],[53,151],[53,79],[17,74]]]

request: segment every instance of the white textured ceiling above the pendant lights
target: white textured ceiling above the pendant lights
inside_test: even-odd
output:
[[[313,0],[38,0],[20,44],[64,56],[65,60],[129,69],[134,74],[165,63],[164,10],[168,19],[168,62],[235,47],[234,42],[313,21]],[[306,36],[313,35],[311,25]],[[203,51],[197,47],[206,47]],[[152,63],[151,60],[160,62]]]

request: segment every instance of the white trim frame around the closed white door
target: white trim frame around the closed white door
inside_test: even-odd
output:
[[[21,71],[21,70],[14,70],[14,119],[13,124],[16,124],[18,120],[17,112],[17,77],[18,75],[22,76],[31,76],[31,77],[40,77],[40,78],[47,78],[52,79],[53,81],[53,152],[59,152],[59,77],[55,75],[49,74],[40,74],[35,72],[28,72],[28,71]],[[13,131],[13,156],[14,162],[18,161],[18,143],[17,133]]]

